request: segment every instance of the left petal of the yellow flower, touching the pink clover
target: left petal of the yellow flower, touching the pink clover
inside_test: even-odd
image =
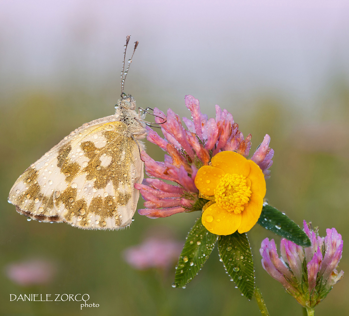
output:
[[[195,186],[201,194],[214,195],[214,190],[224,174],[222,169],[202,166],[195,176]]]

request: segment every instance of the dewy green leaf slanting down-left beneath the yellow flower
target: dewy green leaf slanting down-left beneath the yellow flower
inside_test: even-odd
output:
[[[183,250],[179,256],[174,284],[176,287],[185,287],[206,262],[211,254],[218,235],[210,233],[198,218],[188,234]]]

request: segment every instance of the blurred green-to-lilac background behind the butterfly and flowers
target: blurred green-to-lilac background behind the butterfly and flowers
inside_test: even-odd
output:
[[[186,289],[174,289],[174,265],[139,271],[122,255],[149,237],[184,243],[198,214],[165,219],[135,214],[124,231],[83,231],[28,222],[7,203],[17,177],[71,130],[111,115],[120,95],[125,37],[139,40],[125,92],[142,107],[190,115],[227,108],[252,149],[268,133],[275,150],[269,204],[301,225],[336,227],[344,240],[344,279],[315,309],[348,315],[349,2],[0,1],[0,311],[3,315],[258,315],[240,296],[214,250]],[[130,52],[129,52],[130,53]],[[149,118],[151,120],[151,117]],[[148,153],[164,152],[147,142]],[[143,201],[140,199],[139,208]],[[271,315],[302,315],[268,276],[259,247],[275,236],[256,225],[249,238],[256,282]],[[275,238],[277,242],[279,238]],[[14,263],[41,260],[52,277],[20,285]],[[40,283],[40,282],[39,282]],[[80,302],[10,302],[9,294],[90,295]]]

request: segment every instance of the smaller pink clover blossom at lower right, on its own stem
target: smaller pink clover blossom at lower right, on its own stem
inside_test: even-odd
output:
[[[343,278],[336,268],[342,257],[343,240],[335,228],[326,230],[326,237],[310,229],[306,221],[304,232],[311,246],[303,248],[287,239],[281,240],[281,258],[276,252],[274,239],[262,241],[260,254],[263,269],[279,281],[286,291],[307,309],[314,308]]]

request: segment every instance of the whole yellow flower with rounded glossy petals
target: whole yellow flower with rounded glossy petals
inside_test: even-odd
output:
[[[202,213],[202,224],[213,234],[248,232],[258,221],[266,193],[264,175],[252,160],[232,151],[222,151],[195,177],[200,194],[214,204]]]

